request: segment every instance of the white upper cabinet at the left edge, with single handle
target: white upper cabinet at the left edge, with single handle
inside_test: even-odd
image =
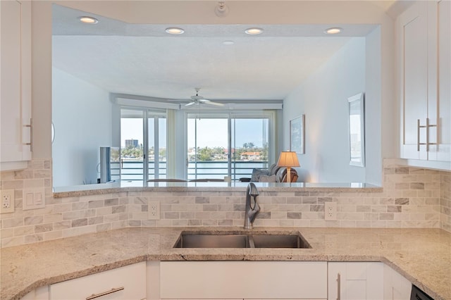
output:
[[[0,1],[0,170],[31,159],[31,2]]]

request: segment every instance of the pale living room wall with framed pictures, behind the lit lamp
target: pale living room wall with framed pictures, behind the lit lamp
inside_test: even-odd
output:
[[[297,168],[303,182],[366,182],[366,169],[350,166],[347,98],[365,92],[365,38],[354,37],[283,103],[284,149],[289,120],[305,114],[305,154]]]

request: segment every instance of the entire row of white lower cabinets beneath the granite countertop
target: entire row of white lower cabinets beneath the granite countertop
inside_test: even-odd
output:
[[[22,299],[409,300],[411,289],[376,262],[147,261],[39,287]]]

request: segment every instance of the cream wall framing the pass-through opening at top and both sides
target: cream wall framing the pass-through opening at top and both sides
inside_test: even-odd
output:
[[[394,22],[372,1],[230,1],[227,18],[211,13],[209,1],[33,1],[32,3],[32,116],[33,158],[51,157],[51,5],[63,4],[131,23],[192,24],[380,24],[383,158],[397,155],[399,118],[395,99]],[[177,5],[174,5],[176,3]],[[328,9],[325,9],[327,7]],[[189,11],[190,13],[186,13]],[[284,116],[285,118],[285,116]],[[285,120],[284,120],[285,122]],[[285,130],[286,132],[286,130]],[[285,133],[286,134],[286,133]],[[286,139],[285,139],[286,140]],[[283,148],[286,148],[284,146]]]

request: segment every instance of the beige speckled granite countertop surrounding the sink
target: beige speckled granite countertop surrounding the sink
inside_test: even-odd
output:
[[[381,261],[435,300],[451,299],[451,233],[440,229],[257,227],[297,232],[311,249],[174,249],[180,232],[240,227],[140,227],[1,249],[1,297],[140,261]]]

